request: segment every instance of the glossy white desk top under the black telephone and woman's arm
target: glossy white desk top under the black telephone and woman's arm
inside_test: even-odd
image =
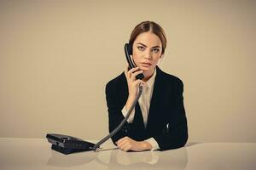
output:
[[[0,169],[256,169],[256,143],[190,143],[177,150],[124,152],[108,140],[102,148],[63,155],[51,150],[46,139],[2,138]]]

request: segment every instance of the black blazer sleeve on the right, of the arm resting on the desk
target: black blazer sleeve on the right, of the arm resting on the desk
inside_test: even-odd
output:
[[[160,146],[160,150],[171,150],[183,147],[188,140],[188,127],[185,109],[183,105],[183,82],[178,79],[175,90],[175,98],[172,100],[172,117],[168,121],[168,127],[163,132],[154,135],[153,138]]]

